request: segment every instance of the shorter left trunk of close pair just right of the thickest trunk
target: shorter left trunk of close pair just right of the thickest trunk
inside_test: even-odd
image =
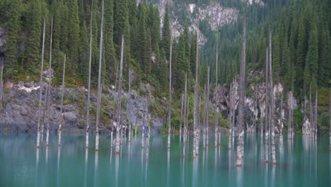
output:
[[[268,77],[269,77],[269,50],[267,49],[267,57],[266,57],[266,69],[265,69],[265,162],[269,162],[269,129],[268,129],[268,123],[269,123],[269,83],[268,83]]]

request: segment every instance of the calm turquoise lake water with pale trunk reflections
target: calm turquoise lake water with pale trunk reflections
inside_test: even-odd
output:
[[[45,137],[44,137],[45,138]],[[182,142],[165,136],[151,137],[149,149],[141,149],[140,137],[123,143],[121,154],[110,149],[110,137],[100,137],[100,151],[85,149],[85,137],[64,135],[62,147],[50,137],[50,147],[35,149],[33,135],[0,135],[0,186],[331,186],[331,152],[328,137],[295,136],[277,145],[277,165],[263,163],[259,135],[245,137],[243,168],[235,166],[235,149],[228,150],[223,135],[220,147],[200,149],[192,159]],[[91,145],[94,137],[91,136]],[[317,145],[317,146],[316,146]]]

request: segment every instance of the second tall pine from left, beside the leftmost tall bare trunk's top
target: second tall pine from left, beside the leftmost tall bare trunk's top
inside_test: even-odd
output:
[[[33,68],[40,61],[40,35],[41,35],[41,10],[40,1],[33,0],[29,4],[28,37],[25,50],[25,66]]]

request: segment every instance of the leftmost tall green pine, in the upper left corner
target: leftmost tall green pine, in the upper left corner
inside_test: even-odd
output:
[[[18,34],[21,32],[21,0],[13,0],[8,6],[8,35],[6,39],[6,67],[13,68],[17,64]],[[9,76],[13,76],[10,71]]]

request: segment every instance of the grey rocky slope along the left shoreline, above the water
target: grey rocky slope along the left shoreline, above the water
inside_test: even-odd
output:
[[[45,101],[47,83],[42,82],[42,101]],[[148,85],[141,84],[141,87],[146,87],[147,91],[147,108],[145,107],[145,98],[139,96],[137,91],[132,91],[129,106],[130,120],[133,125],[142,125],[142,113],[144,109],[147,112],[146,121],[153,125],[153,133],[158,132],[158,129],[163,125],[165,118],[158,117],[148,109],[155,102],[151,96],[151,89]],[[20,82],[12,84],[6,82],[4,94],[4,110],[0,112],[0,132],[35,132],[37,130],[38,115],[42,114],[42,123],[50,123],[51,132],[55,132],[62,123],[64,132],[83,133],[85,132],[86,121],[86,101],[87,90],[84,87],[66,88],[64,91],[64,106],[63,115],[60,113],[60,87],[52,87],[50,105],[50,114],[47,113],[47,106],[43,105],[42,110],[38,111],[40,84],[32,82]],[[124,102],[124,113],[127,113],[127,92],[122,94],[122,103]],[[43,102],[45,103],[45,102]],[[117,112],[117,91],[112,88],[103,89],[101,110],[100,133],[109,132],[112,129],[113,120]],[[95,130],[95,111],[96,97],[95,93],[91,94],[91,130]],[[50,118],[48,118],[50,117]],[[137,123],[136,123],[137,120]],[[123,121],[123,124],[125,122]]]

